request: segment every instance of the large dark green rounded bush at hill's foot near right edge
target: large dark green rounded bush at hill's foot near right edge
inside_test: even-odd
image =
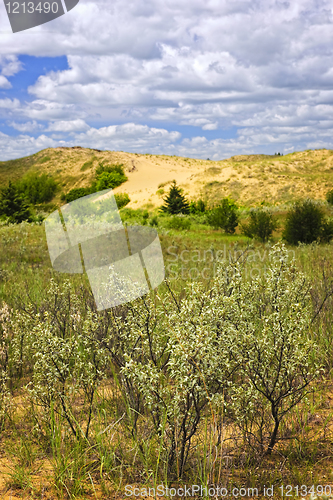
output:
[[[320,238],[324,222],[323,211],[313,201],[297,202],[287,214],[282,238],[291,245],[312,243]]]

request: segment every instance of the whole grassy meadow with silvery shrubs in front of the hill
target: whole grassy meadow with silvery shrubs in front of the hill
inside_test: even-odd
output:
[[[2,498],[333,497],[332,244],[154,216],[166,280],[100,312],[43,224],[0,227]]]

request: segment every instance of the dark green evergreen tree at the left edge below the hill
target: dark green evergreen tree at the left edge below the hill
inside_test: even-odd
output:
[[[17,187],[9,182],[0,195],[0,216],[8,218],[9,222],[19,223],[32,221],[33,216],[26,200],[20,195]]]

